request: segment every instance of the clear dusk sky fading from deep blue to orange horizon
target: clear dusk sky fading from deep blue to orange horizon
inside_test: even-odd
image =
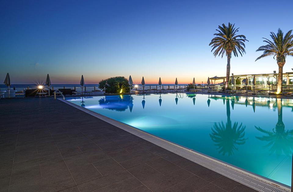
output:
[[[246,54],[232,57],[231,73],[272,73],[273,57],[255,59],[262,37],[293,29],[288,1],[1,1],[0,77],[13,84],[98,83],[132,76],[140,83],[199,83],[225,76],[226,57],[208,45],[222,23],[244,34]],[[288,57],[284,72],[292,71]]]

